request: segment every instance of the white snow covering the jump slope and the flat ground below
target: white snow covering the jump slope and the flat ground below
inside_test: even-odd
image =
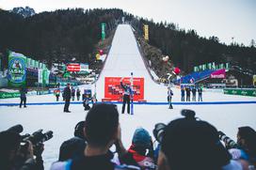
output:
[[[134,72],[135,77],[145,79],[145,100],[167,101],[167,86],[155,84],[148,74],[142,58],[137,50],[136,39],[128,24],[120,24],[113,39],[112,48],[106,58],[104,70],[96,83],[97,98],[104,98],[104,77],[125,77]],[[91,85],[94,91],[94,85]],[[81,85],[80,89],[88,88]],[[180,101],[180,89],[172,87],[173,101]],[[27,102],[55,101],[53,94],[29,96]],[[204,101],[248,101],[256,100],[254,97],[224,95],[220,91],[203,91]],[[0,103],[19,102],[19,99],[0,100]],[[52,162],[58,159],[61,143],[72,137],[74,126],[84,120],[87,112],[82,104],[71,104],[72,113],[63,113],[63,105],[29,105],[27,108],[0,107],[0,131],[7,130],[16,124],[24,126],[24,133],[32,133],[39,129],[54,131],[54,137],[45,142],[43,160],[45,169],[49,169]],[[180,116],[182,109],[192,109],[202,120],[209,121],[219,131],[224,131],[235,140],[237,128],[250,126],[256,130],[256,104],[220,104],[220,105],[173,105],[169,110],[168,105],[135,105],[135,115],[120,114],[122,141],[129,147],[136,127],[143,127],[151,132],[155,123],[168,123]],[[118,105],[120,111],[121,105]]]

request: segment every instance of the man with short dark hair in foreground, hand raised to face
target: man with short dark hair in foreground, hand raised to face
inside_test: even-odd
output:
[[[119,112],[114,104],[99,103],[88,111],[84,134],[87,146],[84,154],[66,162],[53,163],[51,170],[121,170],[138,169],[113,162],[113,153],[109,148],[115,144],[118,154],[127,151],[120,140]]]

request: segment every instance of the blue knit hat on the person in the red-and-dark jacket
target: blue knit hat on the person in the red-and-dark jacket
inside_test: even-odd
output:
[[[149,131],[143,128],[137,128],[134,137],[133,137],[133,145],[136,147],[151,147],[152,137]]]

